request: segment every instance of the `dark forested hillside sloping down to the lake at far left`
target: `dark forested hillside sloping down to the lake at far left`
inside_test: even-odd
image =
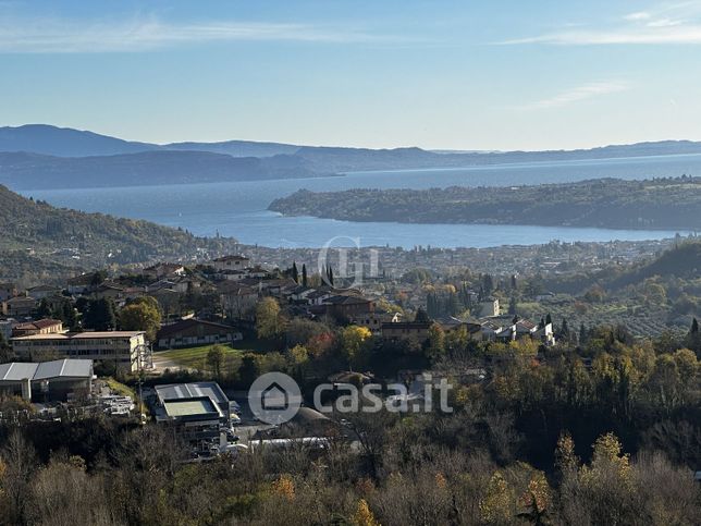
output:
[[[22,252],[48,264],[94,268],[183,259],[231,249],[235,240],[202,238],[148,221],[54,208],[0,185],[0,260]],[[12,269],[0,268],[0,278]]]

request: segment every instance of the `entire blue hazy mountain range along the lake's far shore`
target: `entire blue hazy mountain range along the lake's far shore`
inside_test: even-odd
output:
[[[88,131],[28,124],[0,127],[0,184],[17,189],[211,183],[313,178],[349,171],[460,168],[701,154],[701,143],[663,140],[592,149],[430,151],[282,143],[152,144]]]

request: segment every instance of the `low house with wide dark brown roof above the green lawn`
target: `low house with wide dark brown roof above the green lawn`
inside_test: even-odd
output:
[[[160,348],[232,343],[238,340],[243,340],[243,334],[238,329],[198,319],[182,319],[163,326],[156,337]]]

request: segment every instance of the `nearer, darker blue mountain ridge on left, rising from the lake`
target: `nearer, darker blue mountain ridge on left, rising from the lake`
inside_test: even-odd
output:
[[[234,158],[207,151],[144,151],[100,157],[1,154],[0,183],[16,189],[218,183],[312,178],[295,156]]]

